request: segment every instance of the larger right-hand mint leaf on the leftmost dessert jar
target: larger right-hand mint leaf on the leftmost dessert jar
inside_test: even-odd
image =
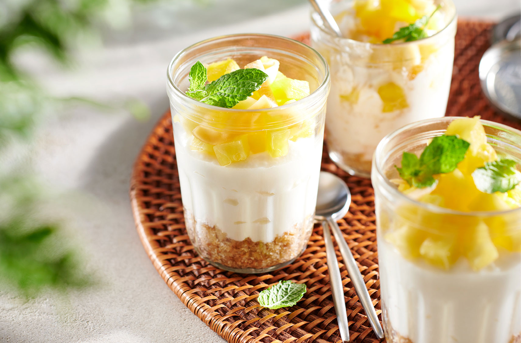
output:
[[[205,87],[206,95],[201,99],[208,105],[231,108],[252,96],[261,88],[268,75],[259,69],[238,69],[222,75]]]

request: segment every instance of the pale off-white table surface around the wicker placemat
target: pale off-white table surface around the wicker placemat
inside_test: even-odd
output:
[[[500,18],[519,12],[517,0],[456,0],[461,15]],[[68,72],[31,59],[46,88],[59,95],[123,101],[138,97],[152,111],[146,122],[126,113],[69,108],[45,120],[31,160],[52,188],[65,192],[54,211],[67,223],[71,244],[81,247],[84,268],[100,284],[64,296],[29,302],[0,292],[1,342],[223,342],[166,286],[135,231],[128,189],[132,164],[148,132],[168,107],[166,66],[181,48],[211,36],[239,32],[291,35],[308,26],[306,6],[234,25],[83,52]],[[196,27],[196,25],[194,25]],[[22,61],[23,62],[23,61]],[[43,67],[42,67],[43,66]],[[24,161],[25,161],[24,160]]]

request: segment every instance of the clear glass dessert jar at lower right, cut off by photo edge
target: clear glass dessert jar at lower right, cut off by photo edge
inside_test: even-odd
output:
[[[521,339],[521,209],[454,211],[413,200],[391,182],[399,177],[394,166],[404,151],[423,151],[455,119],[407,125],[384,138],[375,152],[371,180],[382,316],[390,343]],[[521,131],[481,124],[499,156],[521,161]],[[468,194],[458,187],[454,197],[464,199]]]

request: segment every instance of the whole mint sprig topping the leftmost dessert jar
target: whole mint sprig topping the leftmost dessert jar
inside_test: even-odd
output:
[[[268,75],[256,68],[238,69],[206,84],[206,68],[197,61],[190,68],[188,79],[188,96],[208,105],[231,108],[261,88]]]

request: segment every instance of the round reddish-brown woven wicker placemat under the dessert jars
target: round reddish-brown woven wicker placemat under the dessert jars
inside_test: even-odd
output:
[[[521,128],[494,113],[481,93],[479,59],[489,46],[492,23],[460,20],[447,115],[481,115]],[[306,42],[308,35],[298,39]],[[351,188],[349,213],[339,222],[380,315],[374,192],[370,180],[349,176],[326,151],[322,169],[342,177]],[[184,227],[170,114],[159,121],[135,162],[130,198],[138,233],[157,271],[181,301],[230,342],[340,341],[334,313],[322,228],[315,226],[307,249],[276,272],[241,275],[222,271],[200,258]],[[340,260],[341,256],[337,250]],[[346,269],[341,265],[351,341],[380,342],[372,332]],[[280,280],[305,283],[304,298],[291,308],[262,309],[259,291]],[[167,300],[165,300],[167,301]],[[195,320],[195,318],[194,318]]]

